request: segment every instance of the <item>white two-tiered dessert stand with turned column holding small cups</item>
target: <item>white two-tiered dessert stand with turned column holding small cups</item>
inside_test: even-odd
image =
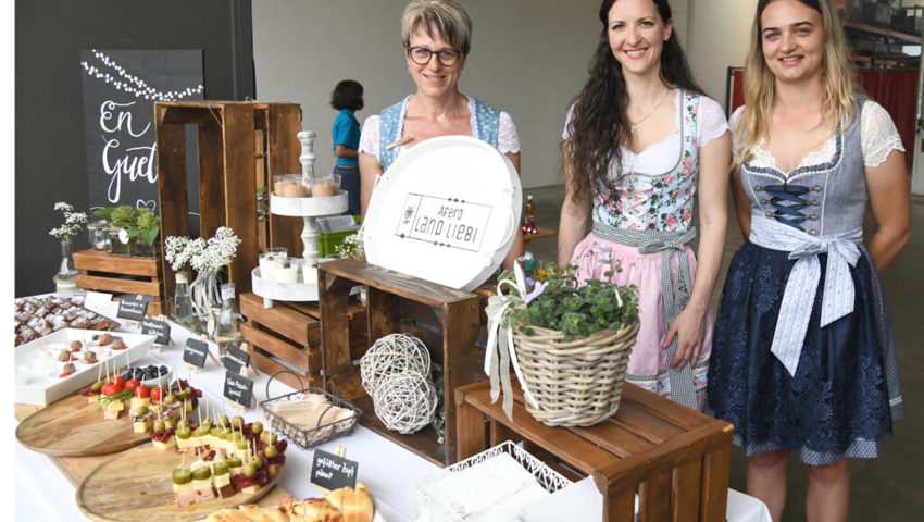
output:
[[[317,136],[313,130],[298,133],[301,141],[301,175],[305,185],[311,186],[314,182],[314,138]],[[337,215],[349,208],[349,195],[345,190],[336,196],[290,198],[270,194],[270,212],[276,215],[298,216],[304,220],[304,228],[301,232],[301,240],[304,243],[302,259],[298,260],[298,282],[279,283],[262,278],[260,268],[253,269],[251,279],[253,293],[263,298],[264,308],[273,308],[273,300],[278,301],[316,301],[317,300],[317,272],[309,271],[309,281],[304,281],[304,266],[317,264],[317,226],[315,220],[327,215]],[[313,277],[312,277],[313,275]]]

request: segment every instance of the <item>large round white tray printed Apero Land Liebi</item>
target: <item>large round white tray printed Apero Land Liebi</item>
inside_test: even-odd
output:
[[[520,234],[516,169],[466,136],[432,138],[401,154],[378,179],[363,221],[370,263],[472,291]]]

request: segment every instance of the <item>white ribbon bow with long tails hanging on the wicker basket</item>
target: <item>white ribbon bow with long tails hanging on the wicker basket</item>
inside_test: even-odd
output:
[[[513,389],[510,385],[510,364],[513,363],[513,372],[526,401],[533,408],[539,408],[529,387],[520,371],[516,362],[516,351],[513,347],[513,328],[503,325],[503,318],[513,309],[525,309],[532,297],[541,294],[545,283],[536,283],[532,294],[526,291],[526,276],[520,264],[514,263],[513,274],[515,281],[501,279],[497,284],[497,295],[488,298],[485,314],[488,316],[488,344],[485,349],[485,374],[491,380],[491,403],[497,402],[501,388],[503,389],[503,402],[501,405],[508,419],[513,419]],[[503,294],[504,287],[510,288],[509,294]],[[537,291],[537,289],[539,291]]]

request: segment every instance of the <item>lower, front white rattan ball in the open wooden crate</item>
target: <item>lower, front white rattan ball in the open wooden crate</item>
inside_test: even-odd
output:
[[[429,377],[417,372],[392,373],[378,382],[372,401],[385,427],[407,435],[433,421],[436,387]]]

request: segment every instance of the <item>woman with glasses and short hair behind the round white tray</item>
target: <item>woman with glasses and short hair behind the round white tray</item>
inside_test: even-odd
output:
[[[414,0],[401,17],[401,39],[416,92],[363,123],[360,138],[362,214],[377,176],[405,150],[437,136],[472,136],[507,154],[520,172],[520,139],[510,114],[459,91],[472,47],[472,21],[453,0]],[[517,234],[503,268],[523,254]]]

